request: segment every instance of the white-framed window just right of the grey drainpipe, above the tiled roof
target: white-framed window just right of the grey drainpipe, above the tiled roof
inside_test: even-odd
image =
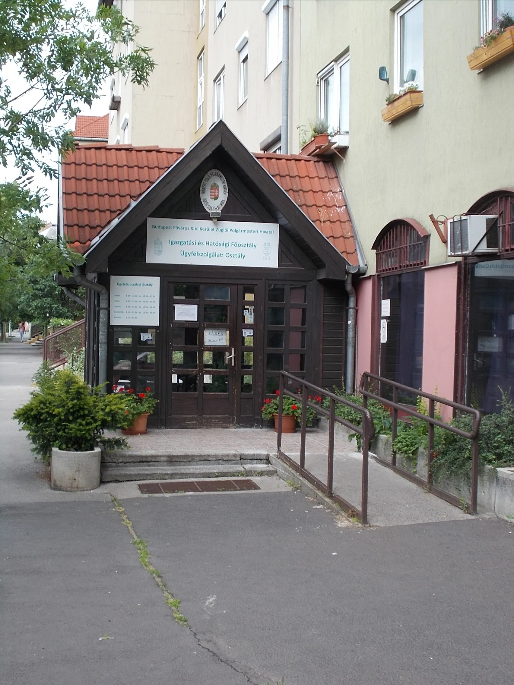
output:
[[[318,116],[329,129],[347,136],[350,132],[350,55],[332,62],[318,74]]]

